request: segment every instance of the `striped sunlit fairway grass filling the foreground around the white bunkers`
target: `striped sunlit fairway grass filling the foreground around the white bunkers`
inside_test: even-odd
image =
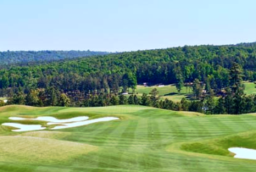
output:
[[[13,132],[0,126],[0,171],[255,171],[256,161],[235,159],[229,147],[256,149],[256,115],[211,115],[152,107],[0,108],[9,117],[118,117],[53,131]],[[22,120],[20,124],[47,121]],[[47,126],[48,127],[48,126]],[[54,126],[52,126],[54,127]]]

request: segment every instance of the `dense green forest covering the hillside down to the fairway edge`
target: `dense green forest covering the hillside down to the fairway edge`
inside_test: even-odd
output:
[[[0,96],[8,95],[16,104],[37,106],[60,105],[56,102],[72,106],[136,102],[209,114],[254,112],[255,97],[243,93],[242,81],[256,81],[256,43],[183,46],[16,65],[0,70]],[[157,91],[153,91],[153,97],[135,97],[135,87],[142,83],[176,84],[178,91],[191,86],[195,100],[164,102],[157,98]],[[133,93],[130,101],[121,95],[126,91]],[[236,110],[245,102],[250,102],[250,107]]]

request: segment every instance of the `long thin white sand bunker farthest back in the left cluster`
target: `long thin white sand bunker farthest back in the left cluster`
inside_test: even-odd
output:
[[[85,120],[89,119],[89,117],[75,117],[75,118],[71,118],[71,119],[56,119],[54,117],[37,117],[35,119],[20,118],[20,117],[9,117],[9,119],[14,120],[14,121],[34,120],[34,121],[47,121],[47,122],[65,123],[65,122],[85,121]]]

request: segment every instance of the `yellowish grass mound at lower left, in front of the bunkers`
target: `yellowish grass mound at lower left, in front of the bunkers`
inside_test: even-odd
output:
[[[0,161],[58,163],[96,151],[97,147],[70,141],[29,136],[0,137]]]

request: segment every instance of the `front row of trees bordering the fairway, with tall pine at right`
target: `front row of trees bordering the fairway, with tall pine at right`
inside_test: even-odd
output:
[[[142,96],[136,95],[134,91],[130,95],[123,95],[114,90],[94,90],[80,96],[79,93],[73,93],[72,96],[68,96],[68,93],[61,93],[54,86],[51,86],[31,90],[18,88],[17,93],[14,93],[9,99],[8,105],[16,104],[39,107],[145,105],[166,110],[203,112],[205,114],[243,114],[256,112],[256,96],[245,95],[245,93],[243,93],[244,86],[242,77],[242,69],[234,62],[228,73],[228,87],[225,88],[225,93],[219,97],[214,94],[212,88],[207,88],[207,84],[202,84],[198,79],[195,79],[192,87],[196,98],[193,101],[186,100],[185,98],[180,102],[173,102],[168,99],[162,100],[156,88],[149,94],[143,93]],[[134,88],[136,83],[133,83],[133,76],[129,77],[129,74],[126,74],[123,80],[125,79],[127,79],[127,81],[124,82],[134,84],[129,85],[131,88]],[[202,95],[202,90],[206,91],[205,95]],[[0,105],[4,105],[4,103],[1,102]]]

